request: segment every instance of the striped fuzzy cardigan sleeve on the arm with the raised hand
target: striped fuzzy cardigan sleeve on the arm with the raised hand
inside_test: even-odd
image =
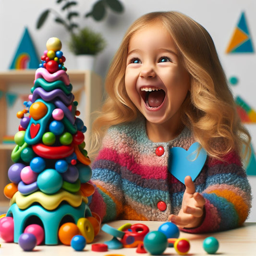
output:
[[[223,161],[209,158],[206,186],[205,218],[195,229],[185,232],[216,232],[241,226],[251,208],[251,187],[240,158],[231,152]]]

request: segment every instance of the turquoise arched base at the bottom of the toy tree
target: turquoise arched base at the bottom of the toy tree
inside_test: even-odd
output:
[[[62,204],[52,211],[46,210],[40,205],[33,205],[27,209],[21,210],[16,204],[13,204],[8,209],[6,216],[13,217],[14,243],[18,243],[19,237],[24,232],[25,224],[28,219],[36,216],[43,224],[45,231],[45,244],[55,245],[58,244],[58,232],[61,220],[64,217],[72,217],[76,224],[78,219],[92,216],[92,214],[88,205],[86,205],[85,202],[82,202],[79,207]]]

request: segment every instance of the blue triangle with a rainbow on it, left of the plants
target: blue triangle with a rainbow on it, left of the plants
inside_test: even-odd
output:
[[[25,27],[10,69],[37,69],[39,60],[28,29]]]

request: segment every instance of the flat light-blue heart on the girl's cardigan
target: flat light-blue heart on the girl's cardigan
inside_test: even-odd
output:
[[[207,153],[204,148],[201,148],[198,153],[199,147],[200,144],[195,142],[188,151],[182,147],[170,149],[168,170],[183,184],[187,175],[191,176],[194,181],[205,164]]]

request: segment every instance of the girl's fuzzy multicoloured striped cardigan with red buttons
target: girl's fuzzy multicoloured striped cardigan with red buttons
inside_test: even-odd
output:
[[[145,122],[110,127],[92,165],[91,182],[97,187],[90,204],[103,221],[114,219],[167,221],[181,209],[185,185],[168,171],[170,148],[195,143],[185,128],[167,143],[153,143]],[[162,156],[156,154],[164,148]],[[187,172],[189,175],[189,170]],[[251,188],[235,152],[223,161],[207,156],[195,189],[206,199],[202,224],[186,232],[214,232],[241,225],[251,207]]]

